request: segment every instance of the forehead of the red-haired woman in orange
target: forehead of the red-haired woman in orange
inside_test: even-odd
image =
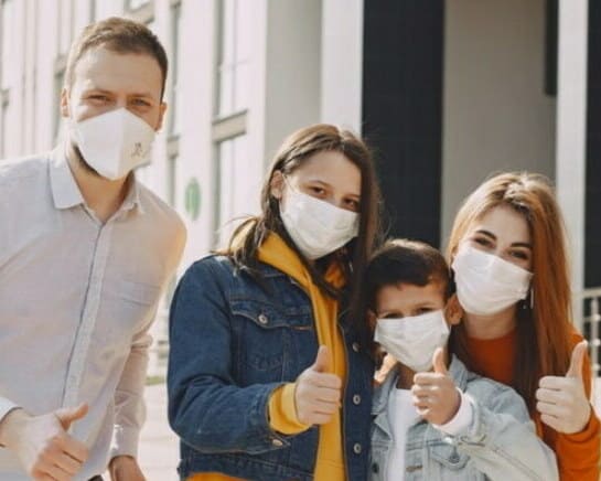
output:
[[[529,243],[530,229],[524,214],[508,205],[498,205],[476,218],[470,231],[484,229],[494,234],[500,242]]]

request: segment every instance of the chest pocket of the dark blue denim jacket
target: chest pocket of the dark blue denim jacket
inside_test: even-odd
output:
[[[233,300],[230,306],[238,381],[249,385],[296,377],[299,336],[313,332],[310,310],[255,299]]]

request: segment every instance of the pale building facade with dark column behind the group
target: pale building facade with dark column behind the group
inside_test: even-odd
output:
[[[68,46],[109,15],[147,23],[170,57],[168,118],[140,177],[186,222],[182,270],[257,212],[288,133],[333,122],[375,148],[395,235],[443,246],[460,201],[492,172],[551,178],[576,321],[598,339],[598,2],[0,0],[0,158],[58,141]]]

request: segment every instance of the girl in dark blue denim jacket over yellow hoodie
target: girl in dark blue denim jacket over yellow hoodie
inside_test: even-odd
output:
[[[377,210],[365,145],[301,129],[276,154],[261,214],[184,275],[168,377],[182,479],[366,478],[373,363],[364,323],[340,314],[357,311]]]

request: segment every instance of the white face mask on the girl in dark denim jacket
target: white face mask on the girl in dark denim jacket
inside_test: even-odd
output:
[[[288,186],[281,205],[286,231],[308,259],[318,259],[345,245],[358,233],[358,214]]]

